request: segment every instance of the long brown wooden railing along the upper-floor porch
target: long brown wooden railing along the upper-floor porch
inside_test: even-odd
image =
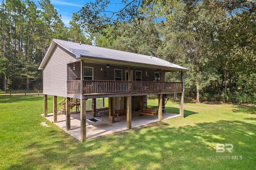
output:
[[[67,93],[77,94],[139,93],[183,90],[182,82],[158,81],[73,80],[67,81],[67,87]]]

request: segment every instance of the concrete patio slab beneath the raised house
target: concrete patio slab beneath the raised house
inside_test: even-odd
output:
[[[92,115],[93,114],[91,111],[86,112],[87,118],[92,117]],[[167,120],[175,117],[181,117],[181,115],[175,113],[162,113],[162,120]],[[45,118],[48,119],[50,122],[53,122],[53,113],[49,113],[48,117]],[[126,125],[126,116],[115,117],[114,123],[110,123],[108,121],[108,115],[105,115],[104,113],[101,115],[101,117],[97,118],[102,119],[103,121],[97,121],[95,123],[92,123],[86,120],[86,139],[92,139],[106,134],[111,134],[129,129]],[[158,116],[144,115],[142,117],[139,117],[138,111],[132,111],[132,128],[148,125],[158,121]],[[62,128],[62,130],[68,132],[71,136],[75,137],[76,139],[81,140],[80,113],[72,113],[70,123],[71,129],[66,131],[66,115],[58,115],[58,122],[55,123],[55,125]]]

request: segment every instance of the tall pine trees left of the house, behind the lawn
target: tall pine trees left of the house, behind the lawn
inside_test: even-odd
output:
[[[42,89],[38,66],[53,38],[91,44],[78,24],[78,15],[73,14],[67,28],[50,0],[40,0],[39,6],[30,0],[3,0],[0,10],[3,91]]]

